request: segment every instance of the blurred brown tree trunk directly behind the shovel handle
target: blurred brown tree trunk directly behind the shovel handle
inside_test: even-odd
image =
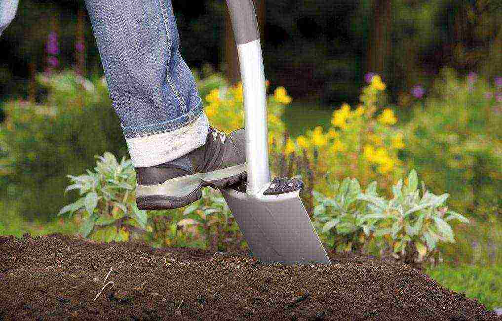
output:
[[[260,27],[261,42],[264,42],[264,28],[265,28],[265,1],[266,0],[254,0],[256,15],[258,18],[258,25]],[[227,79],[231,84],[235,84],[240,81],[240,68],[237,53],[237,46],[235,45],[235,39],[233,38],[232,24],[230,21],[230,16],[226,14],[225,23],[225,74]]]

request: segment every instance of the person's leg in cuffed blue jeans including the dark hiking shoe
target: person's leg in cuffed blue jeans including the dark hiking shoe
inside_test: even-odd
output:
[[[170,209],[245,177],[245,132],[208,124],[178,51],[171,0],[86,0],[139,209]]]

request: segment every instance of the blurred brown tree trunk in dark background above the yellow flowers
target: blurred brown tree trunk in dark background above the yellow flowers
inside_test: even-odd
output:
[[[384,75],[392,50],[392,0],[374,0],[366,71]]]

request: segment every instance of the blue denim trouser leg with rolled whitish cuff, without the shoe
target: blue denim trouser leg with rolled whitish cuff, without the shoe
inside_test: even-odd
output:
[[[135,167],[168,162],[204,145],[209,124],[179,52],[171,0],[85,3]]]

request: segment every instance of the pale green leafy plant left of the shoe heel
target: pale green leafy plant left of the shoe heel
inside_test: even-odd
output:
[[[134,201],[136,175],[131,160],[123,157],[118,163],[109,152],[95,157],[99,159],[95,172],[87,170],[87,174],[80,176],[67,175],[72,184],[65,193],[79,189],[82,197],[64,206],[58,215],[81,212],[83,222],[79,232],[83,237],[91,235],[109,242],[127,241],[131,232],[143,236],[147,232],[148,217]]]

